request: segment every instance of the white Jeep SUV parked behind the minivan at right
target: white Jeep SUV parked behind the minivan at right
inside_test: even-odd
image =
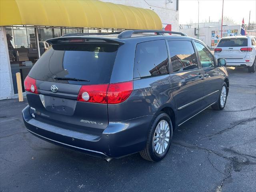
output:
[[[216,59],[225,58],[227,66],[248,67],[248,72],[256,70],[255,36],[232,36],[221,38],[214,49]]]

